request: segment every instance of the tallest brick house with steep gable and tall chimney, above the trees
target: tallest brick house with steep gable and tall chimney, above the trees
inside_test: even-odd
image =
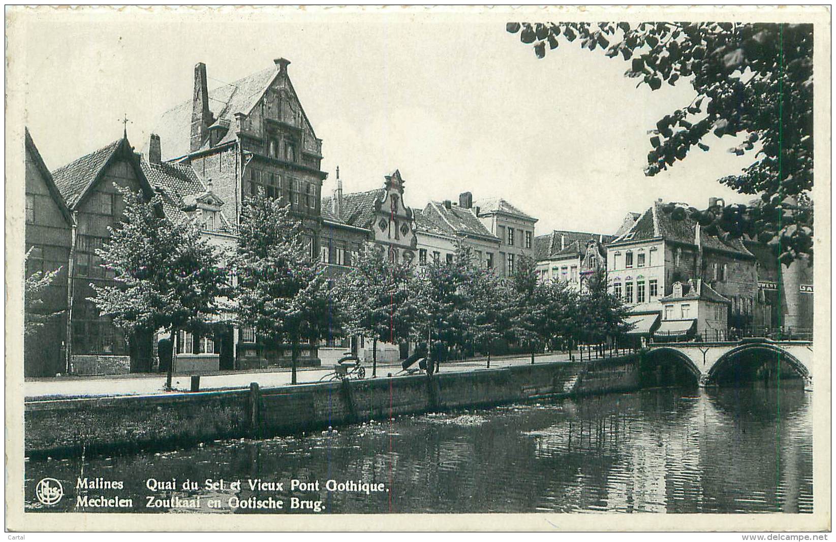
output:
[[[322,139],[288,77],[285,58],[243,79],[208,89],[206,65],[194,71],[192,99],[166,111],[153,133],[161,161],[189,165],[224,202],[235,224],[247,196],[289,202],[319,251]],[[150,146],[149,146],[150,154]]]

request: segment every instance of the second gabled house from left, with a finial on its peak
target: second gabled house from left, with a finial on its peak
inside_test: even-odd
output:
[[[76,374],[150,371],[151,332],[128,342],[87,300],[94,295],[91,283],[114,282],[95,250],[110,238],[108,226],[122,220],[125,203],[117,187],[141,190],[149,198],[154,194],[139,156],[125,135],[54,170],[53,177],[77,228],[69,264],[69,370]]]

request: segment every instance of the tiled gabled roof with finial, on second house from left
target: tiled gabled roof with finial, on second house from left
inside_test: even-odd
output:
[[[116,139],[113,143],[107,144],[101,149],[84,154],[81,158],[59,167],[53,171],[55,185],[67,201],[70,210],[78,207],[84,196],[95,185],[107,165],[118,158],[124,158],[134,168],[140,186],[145,190],[146,195],[151,195],[154,189],[145,178],[140,167],[140,159],[134,153],[127,137]]]

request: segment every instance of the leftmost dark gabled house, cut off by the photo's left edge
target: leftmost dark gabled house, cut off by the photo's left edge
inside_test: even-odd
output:
[[[25,156],[24,234],[29,254],[26,276],[38,271],[60,271],[44,288],[40,296],[42,303],[37,307],[37,312],[41,314],[59,314],[25,337],[23,376],[54,377],[56,373],[66,372],[67,366],[64,351],[67,340],[67,277],[74,221],[28,129],[25,130]]]

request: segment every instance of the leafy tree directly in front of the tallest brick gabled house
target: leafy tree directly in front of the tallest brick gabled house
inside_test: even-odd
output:
[[[341,320],[310,242],[290,205],[262,195],[245,202],[233,257],[238,324],[268,343],[290,343],[294,384],[301,342],[324,337]]]

